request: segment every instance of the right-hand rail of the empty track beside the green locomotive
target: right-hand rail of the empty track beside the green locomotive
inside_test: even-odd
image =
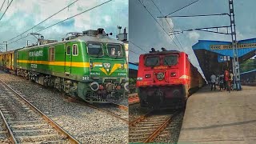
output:
[[[13,91],[14,94],[18,96],[18,98],[21,98],[23,102],[26,102],[27,106],[29,106],[32,110],[34,110],[35,113],[39,114],[46,122],[49,122],[51,126],[55,128],[59,133],[63,134],[68,138],[68,140],[73,144],[80,143],[77,139],[75,139],[73,136],[71,136],[66,130],[62,129],[61,126],[58,126],[56,122],[51,120],[46,114],[43,114],[41,110],[38,110],[34,105],[32,105],[30,102],[26,100],[26,98],[23,98],[22,95],[18,94],[13,88],[11,88],[9,85],[6,84],[6,82],[3,82],[0,80],[9,90]]]

